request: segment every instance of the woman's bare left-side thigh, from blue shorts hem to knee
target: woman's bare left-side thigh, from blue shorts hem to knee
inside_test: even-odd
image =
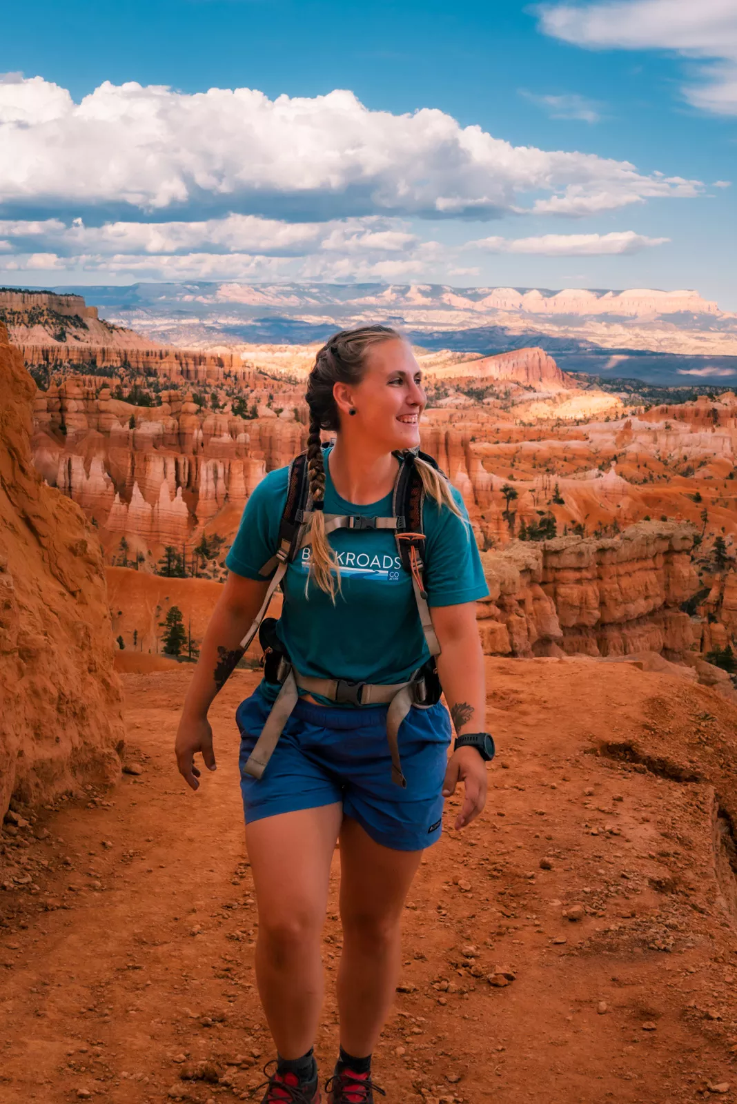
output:
[[[259,923],[285,935],[322,926],[340,803],[263,817],[246,825]]]

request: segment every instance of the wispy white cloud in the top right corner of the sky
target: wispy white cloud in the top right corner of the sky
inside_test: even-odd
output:
[[[735,0],[620,0],[538,10],[546,34],[580,46],[672,50],[702,60],[698,79],[684,86],[684,95],[706,112],[737,114]]]

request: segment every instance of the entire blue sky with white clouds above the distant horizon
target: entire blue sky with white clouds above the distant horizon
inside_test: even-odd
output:
[[[2,283],[696,287],[737,309],[734,0],[40,0],[3,12],[0,73]]]

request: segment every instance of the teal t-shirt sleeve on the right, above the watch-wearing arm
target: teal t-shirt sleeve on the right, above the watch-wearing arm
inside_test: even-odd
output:
[[[451,487],[462,519],[447,506],[425,501],[425,586],[430,606],[455,606],[489,594],[463,499]]]

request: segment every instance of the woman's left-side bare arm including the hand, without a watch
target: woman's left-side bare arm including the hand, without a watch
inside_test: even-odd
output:
[[[179,772],[192,789],[200,785],[200,771],[194,766],[197,752],[207,769],[215,769],[207,710],[243,656],[241,640],[258,613],[267,587],[267,580],[245,578],[229,572],[210,618],[184,698],[174,744]]]

